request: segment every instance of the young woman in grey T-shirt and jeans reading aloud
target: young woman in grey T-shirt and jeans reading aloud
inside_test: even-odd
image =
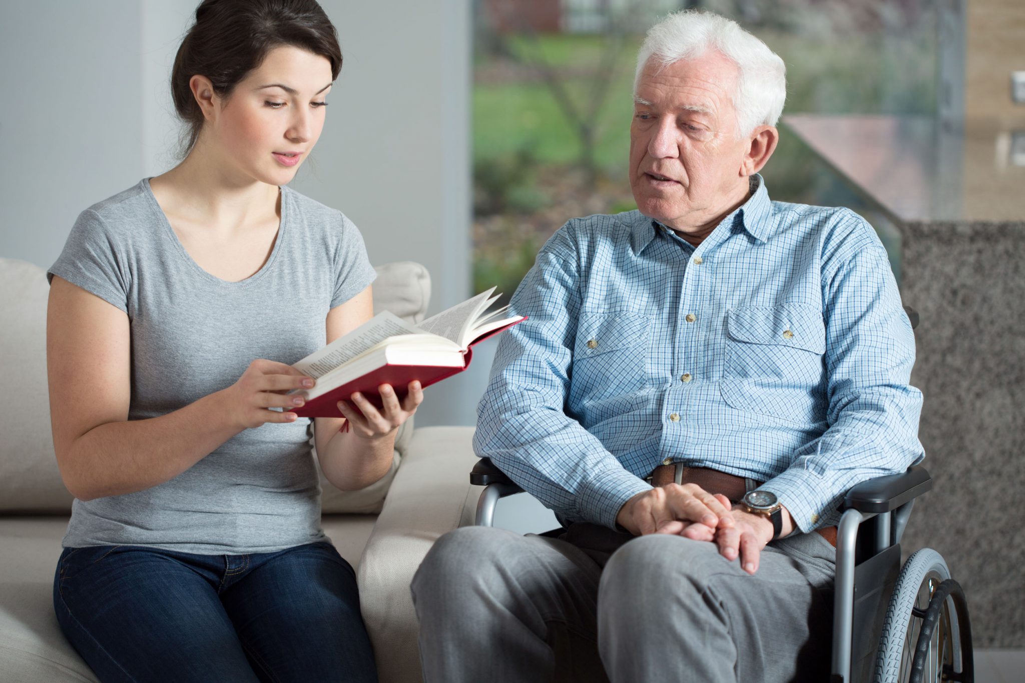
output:
[[[359,230],[287,187],[340,68],[314,0],[205,0],[171,75],[183,161],[83,211],[49,269],[76,498],[54,609],[102,681],[376,681],[310,439],[366,486],[422,392],[314,421],[285,395],[312,386],[290,364],[372,314]]]

